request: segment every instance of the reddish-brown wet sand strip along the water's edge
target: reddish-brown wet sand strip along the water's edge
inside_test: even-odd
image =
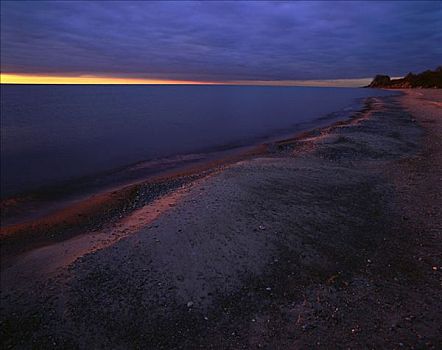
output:
[[[31,214],[29,217],[24,217],[18,221],[2,218],[2,226],[0,227],[2,253],[9,258],[11,255],[24,253],[30,249],[69,239],[86,232],[96,232],[105,229],[107,226],[118,222],[122,217],[130,215],[132,211],[146,206],[153,200],[173,192],[183,185],[190,184],[196,179],[222,171],[225,167],[240,161],[270,155],[275,150],[284,148],[286,144],[302,142],[303,139],[308,139],[324,132],[327,133],[335,127],[352,123],[354,120],[361,118],[361,116],[363,117],[365,113],[369,113],[370,109],[372,109],[372,101],[376,99],[377,97],[362,99],[361,107],[352,112],[351,116],[347,119],[335,120],[332,124],[327,124],[327,120],[333,120],[336,117],[324,116],[319,118],[325,121],[324,125],[299,131],[291,137],[287,133],[285,136],[280,135],[279,137],[267,138],[267,141],[264,143],[227,150],[227,153],[224,155],[213,156],[213,154],[206,154],[207,159],[197,162],[197,164],[183,165],[178,169],[166,170],[164,173],[160,172],[159,174],[147,176],[147,179],[137,180],[132,184],[123,184],[92,194],[68,198],[49,206],[47,209],[43,209],[42,213],[36,217],[33,217]],[[306,124],[313,124],[313,122]],[[221,151],[221,153],[223,152]],[[156,187],[159,187],[159,189],[157,190]],[[152,193],[149,193],[148,198],[144,198],[135,206],[129,205],[128,203],[138,202],[139,197],[143,196],[140,192],[144,193],[144,196],[146,196],[146,192]],[[33,196],[32,193],[30,195]],[[36,195],[38,197],[38,192]],[[20,200],[20,197],[18,198]],[[8,200],[6,199],[6,201]],[[11,198],[11,200],[14,200],[14,198]],[[128,206],[130,208],[127,208]],[[20,211],[26,211],[26,209],[26,206],[21,209],[18,208]],[[17,209],[13,208],[12,210]],[[4,207],[2,207],[2,211],[5,211]],[[108,215],[109,212],[110,215]],[[6,224],[4,224],[5,221]],[[57,237],[51,231],[56,231]],[[59,231],[69,232],[60,235]],[[28,236],[33,236],[32,240],[29,247],[24,247],[23,241],[26,241]],[[18,249],[15,247],[17,245],[20,246]]]

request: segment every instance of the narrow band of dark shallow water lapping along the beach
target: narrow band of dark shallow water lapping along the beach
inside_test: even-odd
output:
[[[149,181],[158,182],[162,179],[178,178],[199,172],[199,169],[209,169],[216,167],[217,164],[230,164],[242,157],[247,158],[249,154],[260,153],[263,148],[276,144],[281,140],[292,139],[297,137],[296,135],[322,129],[329,126],[330,122],[335,123],[352,119],[354,114],[358,114],[360,110],[365,108],[365,100],[369,98],[356,99],[360,104],[357,109],[349,107],[339,114],[338,112],[328,113],[313,121],[300,122],[296,124],[292,131],[284,131],[284,133],[280,131],[272,135],[259,137],[251,143],[224,145],[196,153],[141,160],[95,175],[73,179],[69,182],[46,185],[7,196],[2,198],[0,202],[1,228],[49,217],[97,195],[121,191],[126,187],[141,185]],[[348,114],[348,109],[352,110],[351,114]],[[159,168],[159,170],[153,169],[153,167]]]

